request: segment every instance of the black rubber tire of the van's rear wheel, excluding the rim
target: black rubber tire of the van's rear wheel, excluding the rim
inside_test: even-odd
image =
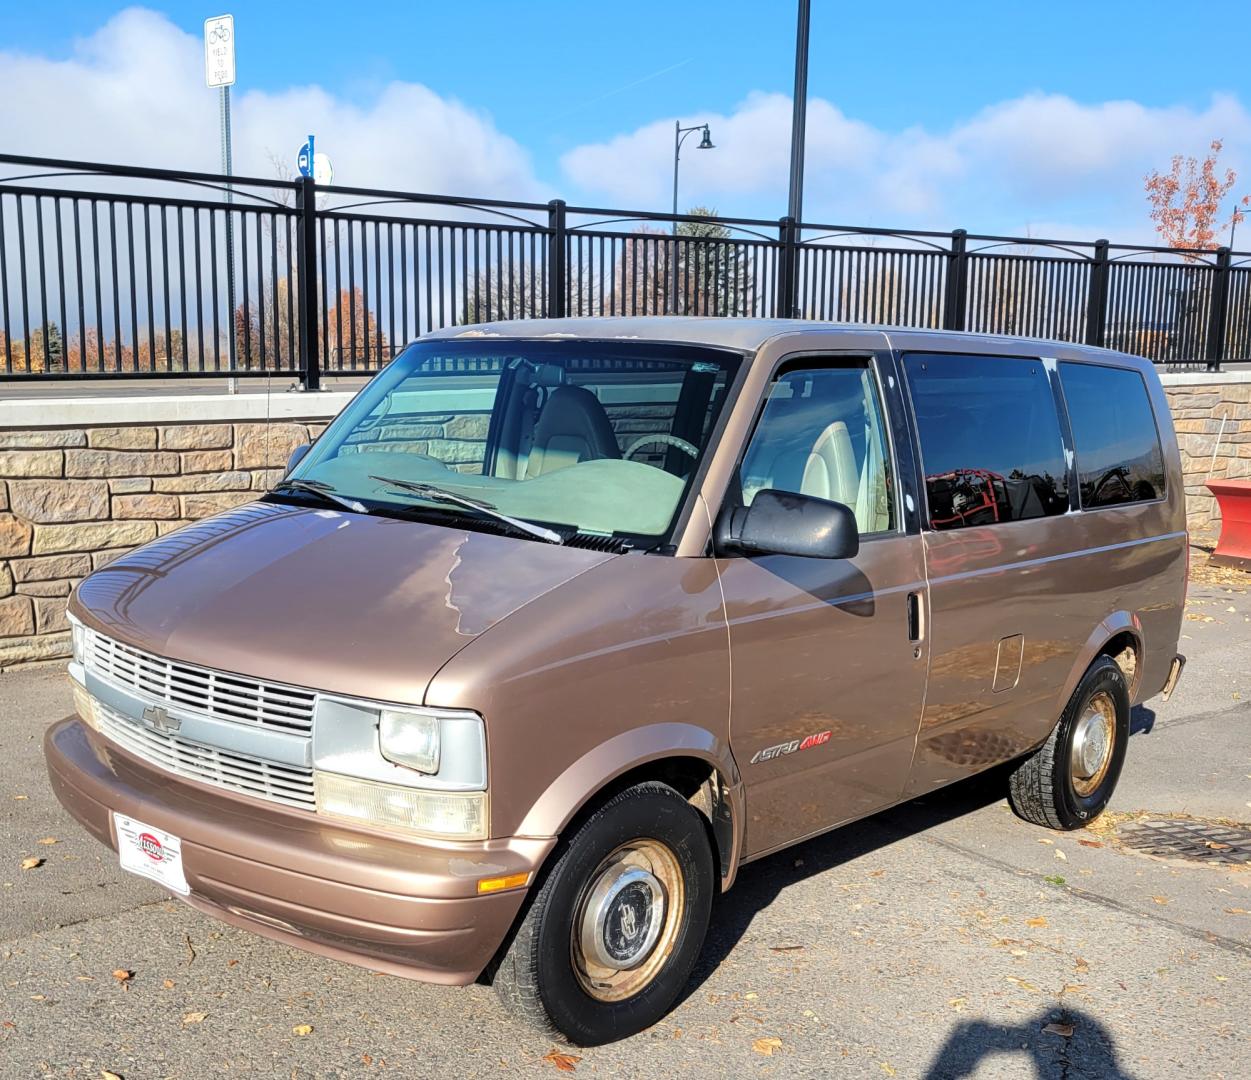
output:
[[[1092,703],[1111,701],[1115,710],[1107,768],[1090,791],[1078,790],[1072,757],[1078,722]],[[1018,817],[1047,828],[1071,831],[1090,825],[1107,806],[1130,742],[1130,688],[1108,656],[1087,668],[1047,741],[1008,777],[1008,802]]]

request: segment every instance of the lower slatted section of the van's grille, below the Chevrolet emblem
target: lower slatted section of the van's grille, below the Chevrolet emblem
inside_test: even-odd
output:
[[[141,727],[99,700],[93,705],[96,727],[103,736],[158,768],[300,810],[315,807],[311,768],[278,765],[190,742],[178,735]]]

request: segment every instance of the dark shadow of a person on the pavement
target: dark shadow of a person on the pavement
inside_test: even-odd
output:
[[[1088,1012],[1067,1007],[1043,1010],[1021,1024],[958,1024],[921,1075],[924,1080],[962,1080],[981,1070],[995,1076],[1008,1064],[1005,1059],[1013,1057],[1028,1061],[1038,1080],[1133,1080],[1107,1027]]]

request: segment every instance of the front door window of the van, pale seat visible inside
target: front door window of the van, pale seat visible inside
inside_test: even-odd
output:
[[[867,365],[799,368],[773,383],[739,471],[743,504],[774,488],[843,503],[861,536],[894,529],[894,478]]]

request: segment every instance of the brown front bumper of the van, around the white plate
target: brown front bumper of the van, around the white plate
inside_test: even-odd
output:
[[[113,811],[181,838],[193,907],[428,982],[478,977],[525,896],[479,896],[479,879],[534,874],[555,843],[437,843],[330,822],[170,776],[76,717],[48,730],[44,756],[56,797],[101,843],[118,847]]]

